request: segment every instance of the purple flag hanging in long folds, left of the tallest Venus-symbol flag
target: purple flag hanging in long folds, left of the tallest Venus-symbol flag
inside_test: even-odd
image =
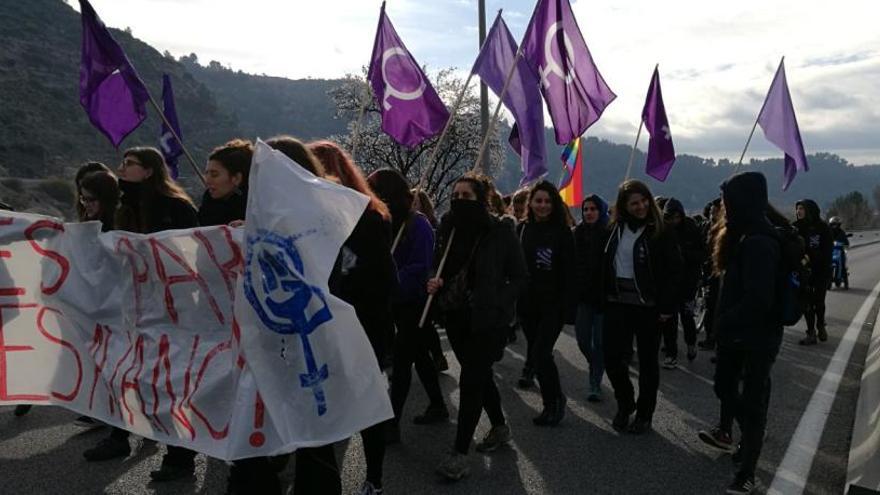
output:
[[[516,40],[499,13],[471,72],[480,76],[496,95],[500,95],[515,58]],[[544,102],[539,84],[538,76],[529,68],[528,62],[520,57],[503,99],[504,106],[516,121],[509,142],[522,159],[523,177],[520,185],[534,182],[547,173]]]

